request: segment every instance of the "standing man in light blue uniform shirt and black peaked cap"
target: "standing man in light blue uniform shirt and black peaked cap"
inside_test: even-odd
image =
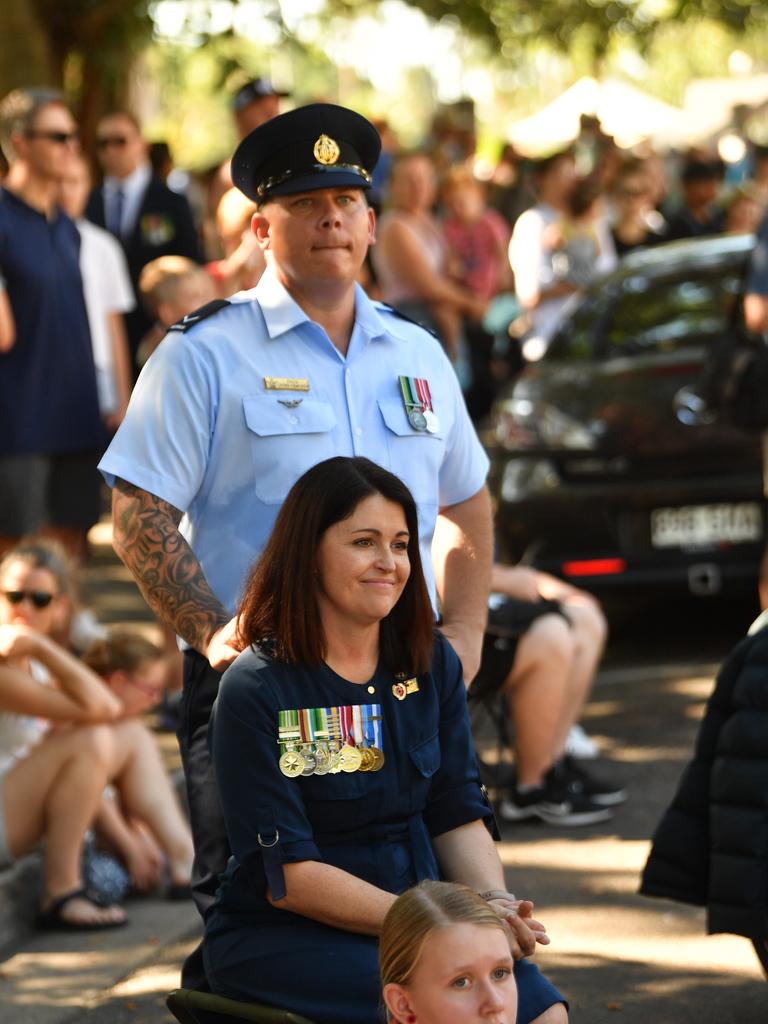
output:
[[[408,483],[443,632],[468,681],[479,665],[487,460],[439,343],[355,283],[375,239],[366,191],[379,150],[365,118],[328,103],[243,140],[232,176],[258,204],[267,270],[253,291],[171,331],[101,462],[116,550],[187,646],[179,739],[201,908],[227,854],[206,731],[219,672],[238,653],[232,614],[306,469],[365,455]]]

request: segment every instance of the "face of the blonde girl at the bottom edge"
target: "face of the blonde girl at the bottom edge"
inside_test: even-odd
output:
[[[517,986],[500,928],[451,925],[432,932],[408,987],[385,985],[394,1021],[411,1024],[515,1024]]]

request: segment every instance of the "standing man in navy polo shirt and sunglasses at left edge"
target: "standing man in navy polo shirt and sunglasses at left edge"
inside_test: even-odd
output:
[[[104,440],[80,236],[56,206],[80,150],[77,125],[59,93],[16,89],[0,103],[0,142],[10,164],[0,279],[13,322],[0,346],[0,553],[44,525],[76,550],[98,518]]]

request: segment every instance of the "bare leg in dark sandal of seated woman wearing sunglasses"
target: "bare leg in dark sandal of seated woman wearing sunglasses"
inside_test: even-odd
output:
[[[43,909],[82,885],[80,864],[85,830],[106,784],[109,729],[83,726],[46,737],[17,762],[3,781],[8,846],[22,856],[45,838]],[[119,922],[118,906],[98,907],[71,900],[61,916],[72,924]]]

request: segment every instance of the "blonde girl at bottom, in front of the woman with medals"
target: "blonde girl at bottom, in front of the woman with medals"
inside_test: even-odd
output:
[[[390,1024],[515,1024],[505,928],[493,903],[466,886],[422,882],[407,890],[384,919],[379,943]]]

